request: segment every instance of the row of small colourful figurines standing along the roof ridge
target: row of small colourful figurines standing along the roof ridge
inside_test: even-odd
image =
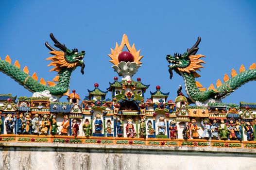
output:
[[[94,134],[102,134],[102,119],[100,114],[96,114],[94,121]],[[38,114],[34,115],[34,119],[30,118],[29,113],[25,113],[24,115],[21,113],[16,118],[15,115],[8,114],[7,118],[5,119],[5,126],[6,126],[6,132],[7,134],[13,134],[15,122],[17,123],[17,134],[37,134],[37,135],[47,135],[48,131],[52,135],[68,135],[69,126],[71,129],[71,134],[73,136],[77,136],[79,131],[79,124],[77,123],[76,119],[73,119],[71,124],[69,123],[68,115],[64,116],[64,120],[60,125],[57,125],[56,116],[52,115],[49,117],[47,114],[43,114],[43,118],[41,119],[41,122],[39,121]],[[247,140],[251,141],[255,139],[254,136],[254,129],[252,124],[247,122],[242,122],[244,126],[244,130],[246,131]],[[1,132],[1,125],[2,120],[0,119],[0,132]],[[238,120],[234,123],[233,119],[230,119],[228,123],[225,123],[224,120],[221,120],[221,124],[217,124],[217,120],[214,119],[212,123],[209,123],[209,119],[204,119],[201,122],[202,130],[204,130],[203,134],[201,135],[201,138],[203,139],[222,139],[227,140],[228,138],[230,140],[242,140],[242,128],[241,123],[239,123]],[[59,133],[58,127],[62,126]],[[85,136],[92,136],[92,127],[89,123],[88,119],[85,119],[83,123],[83,131],[85,133]],[[123,124],[121,120],[118,118],[116,121],[116,131],[117,136],[122,137],[123,136],[123,130],[122,127]],[[149,135],[156,134],[155,129],[153,128],[152,122],[148,121],[148,133]],[[157,135],[165,135],[166,134],[166,122],[164,117],[159,118],[159,122],[157,124]],[[183,138],[184,139],[197,139],[199,138],[199,133],[197,132],[200,129],[200,127],[197,126],[196,120],[192,119],[191,123],[186,123],[183,127]],[[106,128],[104,129],[107,134],[112,133],[112,124],[111,121],[108,120],[106,122]],[[170,126],[168,127],[170,138],[176,139],[177,138],[177,123],[175,120],[171,120]],[[127,124],[125,126],[125,132],[127,137],[136,137],[137,132],[135,131],[133,119],[127,119]],[[146,131],[146,123],[144,119],[140,120],[140,126],[139,126],[139,137],[145,138],[147,136]]]

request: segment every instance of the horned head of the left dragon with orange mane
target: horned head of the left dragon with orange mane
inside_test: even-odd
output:
[[[65,44],[61,44],[51,33],[50,37],[55,43],[54,46],[59,48],[61,51],[57,51],[52,48],[48,42],[45,43],[46,47],[51,50],[50,53],[54,56],[47,58],[52,62],[48,66],[55,66],[50,71],[60,71],[61,68],[73,68],[81,66],[81,73],[84,74],[85,64],[83,58],[85,56],[85,51],[78,52],[77,49],[69,50]]]

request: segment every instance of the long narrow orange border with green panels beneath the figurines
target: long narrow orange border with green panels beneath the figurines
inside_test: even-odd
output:
[[[37,136],[1,135],[0,142],[40,142],[40,143],[77,143],[107,145],[151,145],[175,147],[218,147],[256,149],[256,141],[205,140],[205,139],[168,139],[168,138],[128,138],[128,137],[85,137],[85,136]]]

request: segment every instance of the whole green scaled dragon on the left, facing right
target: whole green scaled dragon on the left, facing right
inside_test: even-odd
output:
[[[5,60],[0,59],[0,71],[7,74],[20,85],[23,85],[26,89],[33,92],[33,97],[49,97],[52,100],[58,100],[61,96],[69,93],[69,81],[72,71],[81,66],[81,72],[84,74],[85,64],[83,58],[85,51],[78,52],[77,49],[70,51],[64,44],[61,44],[51,33],[50,37],[55,43],[54,46],[60,49],[58,51],[51,47],[48,42],[45,43],[46,47],[50,50],[50,53],[54,56],[47,58],[52,62],[48,66],[54,66],[50,71],[57,71],[58,75],[52,80],[57,82],[48,81],[48,85],[43,78],[40,82],[37,81],[37,75],[34,73],[30,76],[29,70],[25,67],[23,70],[20,69],[18,61],[14,65],[11,64],[11,59],[7,55]]]

